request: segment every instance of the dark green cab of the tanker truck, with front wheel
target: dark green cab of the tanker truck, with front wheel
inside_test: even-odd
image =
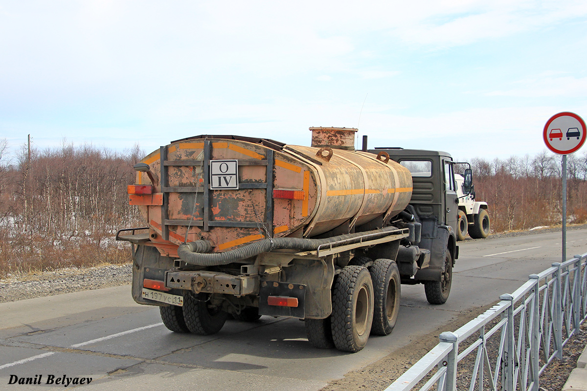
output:
[[[376,148],[370,152],[386,152],[390,158],[410,170],[413,191],[406,210],[420,225],[420,240],[401,249],[396,259],[403,284],[424,284],[431,304],[443,304],[452,283],[452,269],[458,258],[458,199],[454,162],[450,154],[420,149]],[[401,223],[397,226],[403,226]],[[417,257],[415,274],[407,266]],[[406,273],[402,273],[406,271]]]

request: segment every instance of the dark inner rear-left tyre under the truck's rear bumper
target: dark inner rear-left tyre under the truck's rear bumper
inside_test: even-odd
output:
[[[184,297],[183,315],[187,328],[194,334],[216,334],[228,317],[228,313],[218,308],[209,308],[208,298],[204,293],[188,292]]]

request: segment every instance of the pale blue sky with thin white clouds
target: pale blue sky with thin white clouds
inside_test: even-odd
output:
[[[551,115],[587,118],[586,49],[585,0],[0,0],[0,138],[150,152],[335,126],[534,155]]]

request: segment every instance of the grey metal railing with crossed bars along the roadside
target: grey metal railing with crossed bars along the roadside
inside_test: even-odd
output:
[[[457,329],[386,391],[531,390],[587,318],[587,253],[553,263]]]

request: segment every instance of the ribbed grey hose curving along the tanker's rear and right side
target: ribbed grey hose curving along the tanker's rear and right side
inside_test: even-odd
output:
[[[369,232],[348,233],[339,236],[328,237],[326,239],[302,239],[299,237],[274,237],[272,239],[263,239],[258,242],[247,244],[236,250],[226,251],[224,253],[205,253],[210,251],[210,242],[207,240],[197,240],[181,244],[177,249],[177,254],[185,263],[196,266],[219,266],[227,265],[235,261],[254,257],[261,253],[268,253],[272,250],[296,250],[312,251],[318,249],[323,244],[339,242],[340,240],[359,239],[367,234],[380,233],[382,236],[388,232],[396,230],[396,227],[385,227],[383,229]]]

